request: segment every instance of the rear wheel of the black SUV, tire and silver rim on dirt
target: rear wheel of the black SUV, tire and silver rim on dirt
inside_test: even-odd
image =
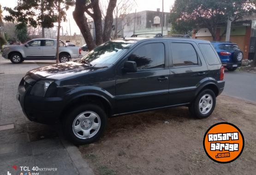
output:
[[[208,101],[207,99],[210,101]],[[201,107],[199,107],[199,104],[201,105]],[[192,116],[199,119],[205,119],[213,113],[215,104],[216,96],[214,92],[210,89],[205,89],[199,92],[199,94],[196,96],[196,99],[189,106],[189,111]],[[203,108],[205,109],[204,112]]]

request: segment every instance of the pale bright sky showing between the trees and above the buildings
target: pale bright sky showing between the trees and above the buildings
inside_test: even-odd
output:
[[[0,5],[2,7],[10,7],[14,8],[17,5],[18,0],[0,0]],[[102,0],[105,1],[105,0]],[[145,10],[151,10],[156,11],[157,8],[160,8],[162,11],[162,0],[135,0],[136,4],[133,8],[132,12],[137,11],[145,11]],[[164,11],[169,12],[170,7],[173,5],[174,0],[164,0]],[[62,22],[61,26],[63,26],[64,34],[66,31],[70,34],[69,29],[69,21],[71,25],[71,34],[77,33],[80,34],[80,30],[77,27],[76,22],[73,19],[72,12],[74,11],[75,7],[71,7],[68,11],[66,11],[67,14],[67,22]],[[3,10],[3,9],[2,9]],[[7,15],[8,13],[6,11],[3,11],[3,16]]]

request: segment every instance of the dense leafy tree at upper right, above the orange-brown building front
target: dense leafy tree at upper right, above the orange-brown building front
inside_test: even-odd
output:
[[[255,0],[175,0],[170,20],[174,29],[183,32],[206,27],[216,40],[218,24],[237,21],[254,11]]]

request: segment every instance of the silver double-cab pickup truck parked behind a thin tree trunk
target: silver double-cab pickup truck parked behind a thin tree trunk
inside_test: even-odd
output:
[[[24,60],[56,60],[57,40],[34,39],[24,45],[9,45],[3,48],[2,56],[10,59],[12,63],[18,64]],[[60,41],[60,62],[69,62],[71,58],[78,58],[81,54],[79,47],[66,47]]]

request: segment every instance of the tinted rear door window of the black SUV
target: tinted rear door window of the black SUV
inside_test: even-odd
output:
[[[172,43],[173,67],[198,65],[196,50],[190,43]]]

